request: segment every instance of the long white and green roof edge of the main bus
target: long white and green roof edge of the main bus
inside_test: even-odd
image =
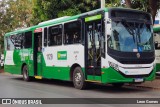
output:
[[[13,31],[13,32],[6,33],[5,36],[10,36],[10,35],[14,35],[14,34],[21,33],[21,32],[26,32],[26,31],[33,31],[36,28],[41,28],[41,27],[45,27],[45,26],[59,24],[59,23],[70,21],[70,20],[76,20],[80,17],[89,16],[89,15],[92,15],[92,14],[95,14],[95,13],[98,13],[98,12],[101,12],[101,11],[108,12],[110,9],[124,9],[124,10],[134,10],[134,11],[137,11],[137,12],[142,12],[140,10],[122,8],[122,7],[119,7],[119,8],[111,7],[111,8],[104,8],[104,9],[96,9],[96,10],[92,10],[92,11],[82,13],[82,14],[79,14],[79,15],[75,15],[75,16],[70,16],[70,17],[66,17],[66,18],[56,18],[56,19],[53,19],[53,20],[41,22],[38,25],[29,27],[29,28],[24,28],[24,29],[20,29],[20,30],[16,30],[16,31]]]

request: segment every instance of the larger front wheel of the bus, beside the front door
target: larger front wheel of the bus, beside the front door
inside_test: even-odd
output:
[[[73,84],[76,89],[85,89],[86,82],[81,67],[76,67],[73,71]]]

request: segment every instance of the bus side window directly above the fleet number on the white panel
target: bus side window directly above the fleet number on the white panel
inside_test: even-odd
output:
[[[49,27],[48,30],[48,46],[62,45],[62,25]]]

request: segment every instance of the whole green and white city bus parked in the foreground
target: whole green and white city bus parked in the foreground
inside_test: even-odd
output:
[[[143,83],[155,79],[151,15],[104,8],[6,33],[4,70],[31,78],[87,83]]]

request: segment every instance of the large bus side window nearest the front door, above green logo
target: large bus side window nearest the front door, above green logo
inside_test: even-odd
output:
[[[74,21],[64,24],[64,44],[81,42],[81,22]]]

